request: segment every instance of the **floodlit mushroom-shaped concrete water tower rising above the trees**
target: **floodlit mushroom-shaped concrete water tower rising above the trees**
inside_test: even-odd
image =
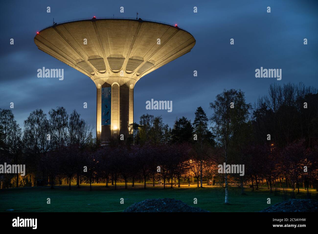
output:
[[[136,82],[190,52],[196,41],[187,31],[166,23],[94,17],[46,27],[34,42],[94,81],[96,136],[105,141],[114,134],[128,135]]]

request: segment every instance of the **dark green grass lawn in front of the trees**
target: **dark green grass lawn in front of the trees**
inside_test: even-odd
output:
[[[147,185],[147,189],[143,189],[142,184],[136,184],[136,187],[129,185],[128,189],[124,189],[123,183],[118,185],[114,190],[114,186],[106,188],[105,184],[93,184],[93,191],[89,191],[89,185],[81,185],[79,189],[72,186],[72,190],[68,190],[67,185],[54,186],[54,189],[49,186],[0,189],[0,212],[7,209],[15,212],[114,212],[149,198],[175,198],[211,212],[257,212],[283,201],[281,191],[275,196],[267,188],[252,192],[246,187],[246,195],[241,195],[237,188],[230,188],[230,205],[225,205],[224,190],[216,186],[197,188],[195,185],[182,185],[180,188],[167,186],[163,189],[161,185]],[[311,193],[315,198],[315,189]],[[305,190],[301,189],[296,198],[306,198],[305,194]],[[51,199],[51,204],[46,204],[47,198]],[[124,198],[124,204],[120,204],[121,198]],[[194,198],[197,198],[197,204],[193,204]],[[267,204],[267,198],[271,198],[271,204]]]

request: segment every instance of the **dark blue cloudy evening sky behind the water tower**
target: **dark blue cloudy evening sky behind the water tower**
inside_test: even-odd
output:
[[[138,3],[139,2],[139,3]],[[199,3],[198,3],[199,2]],[[6,1],[1,4],[0,108],[11,109],[20,127],[35,109],[76,109],[96,129],[96,86],[79,71],[38,50],[37,31],[77,18],[138,17],[178,24],[196,39],[190,53],[142,77],[134,89],[134,121],[162,115],[194,119],[223,89],[241,89],[247,102],[266,95],[271,83],[303,82],[318,88],[317,1]],[[51,13],[46,7],[51,7]],[[120,13],[120,7],[124,13]],[[198,12],[193,12],[197,6]],[[267,13],[267,6],[271,13]],[[10,45],[10,39],[14,45]],[[230,45],[230,39],[234,45]],[[303,44],[304,38],[308,45]],[[64,80],[38,78],[37,69],[64,69]],[[282,79],[255,78],[255,69],[282,69]],[[197,70],[198,76],[193,76]],[[146,110],[147,100],[171,100],[172,112]],[[87,109],[83,108],[87,102]]]

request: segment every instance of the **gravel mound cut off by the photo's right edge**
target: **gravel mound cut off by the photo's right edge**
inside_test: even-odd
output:
[[[318,212],[318,201],[313,199],[289,199],[259,212]]]

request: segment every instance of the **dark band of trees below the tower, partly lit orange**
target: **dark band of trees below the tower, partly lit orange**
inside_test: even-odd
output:
[[[225,190],[266,183],[317,189],[318,92],[304,84],[271,84],[268,95],[252,105],[241,90],[224,90],[210,103],[211,116],[200,106],[194,121],[176,119],[173,128],[161,116],[143,114],[129,125],[122,140],[114,135],[102,143],[92,127],[73,110],[57,107],[48,116],[30,113],[22,130],[10,110],[0,110],[0,164],[26,164],[27,174],[0,174],[1,188],[34,186],[37,179],[71,181],[77,186],[118,181],[162,183],[163,188],[189,182],[203,186],[214,179]],[[245,165],[244,176],[218,173],[218,165]],[[85,169],[86,167],[86,169]],[[85,171],[86,170],[86,171]]]

